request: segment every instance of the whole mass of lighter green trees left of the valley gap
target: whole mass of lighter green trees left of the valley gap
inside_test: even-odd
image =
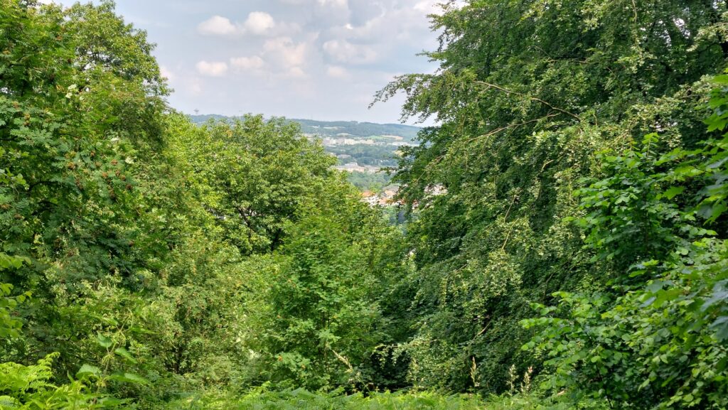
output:
[[[20,363],[11,371],[54,355],[49,383],[75,374],[142,409],[212,386],[376,378],[385,338],[369,292],[401,272],[400,253],[383,261],[391,251],[377,243],[396,235],[322,146],[284,119],[197,127],[167,112],[146,33],[111,1],[4,0],[0,13],[0,262],[15,265],[0,271],[0,328],[17,336],[0,360]],[[13,289],[33,301],[18,306],[26,295]]]

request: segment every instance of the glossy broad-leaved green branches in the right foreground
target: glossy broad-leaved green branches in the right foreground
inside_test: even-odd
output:
[[[713,92],[710,130],[728,124],[727,101]],[[524,348],[549,358],[547,387],[638,409],[728,405],[726,138],[658,156],[648,135],[641,151],[605,157],[605,178],[577,191],[587,246],[619,256],[623,274],[601,294],[557,293],[558,308],[525,321],[544,328]]]

